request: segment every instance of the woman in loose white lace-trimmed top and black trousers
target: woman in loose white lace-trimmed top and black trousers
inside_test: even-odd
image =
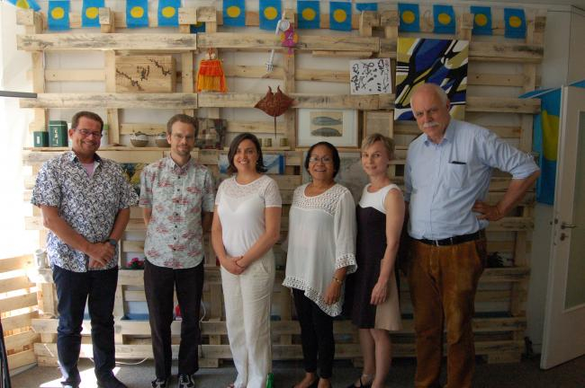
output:
[[[341,313],[346,275],[356,270],[356,205],[351,192],[333,181],[339,164],[335,146],[312,145],[304,164],[312,181],[294,190],[289,213],[283,285],[293,288],[305,368],[294,388],[331,386],[333,317]]]

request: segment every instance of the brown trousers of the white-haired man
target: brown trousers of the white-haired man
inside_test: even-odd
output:
[[[475,367],[472,318],[486,242],[449,246],[413,240],[408,265],[414,307],[417,373],[415,387],[438,387],[446,324],[447,387],[472,386]]]

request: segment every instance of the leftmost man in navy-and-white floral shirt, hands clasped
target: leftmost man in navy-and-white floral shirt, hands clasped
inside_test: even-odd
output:
[[[112,374],[112,311],[118,241],[138,198],[120,165],[95,154],[102,128],[95,113],[77,112],[69,129],[72,150],[44,163],[32,190],[31,203],[40,207],[49,229],[47,253],[58,295],[58,362],[65,387],[81,382],[77,359],[86,300],[98,386],[126,386]]]

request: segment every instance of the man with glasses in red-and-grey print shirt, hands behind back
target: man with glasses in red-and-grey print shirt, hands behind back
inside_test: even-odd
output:
[[[144,243],[144,290],[147,297],[154,388],[165,388],[171,375],[173,288],[179,302],[181,345],[179,388],[194,387],[199,369],[199,310],[203,287],[203,229],[211,225],[214,185],[207,167],[195,162],[196,121],[177,114],[166,124],[169,156],[149,164],[140,177],[140,207],[148,226]]]

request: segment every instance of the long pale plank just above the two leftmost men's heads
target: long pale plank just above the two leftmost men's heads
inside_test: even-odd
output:
[[[193,93],[41,93],[21,99],[21,108],[196,109]]]

